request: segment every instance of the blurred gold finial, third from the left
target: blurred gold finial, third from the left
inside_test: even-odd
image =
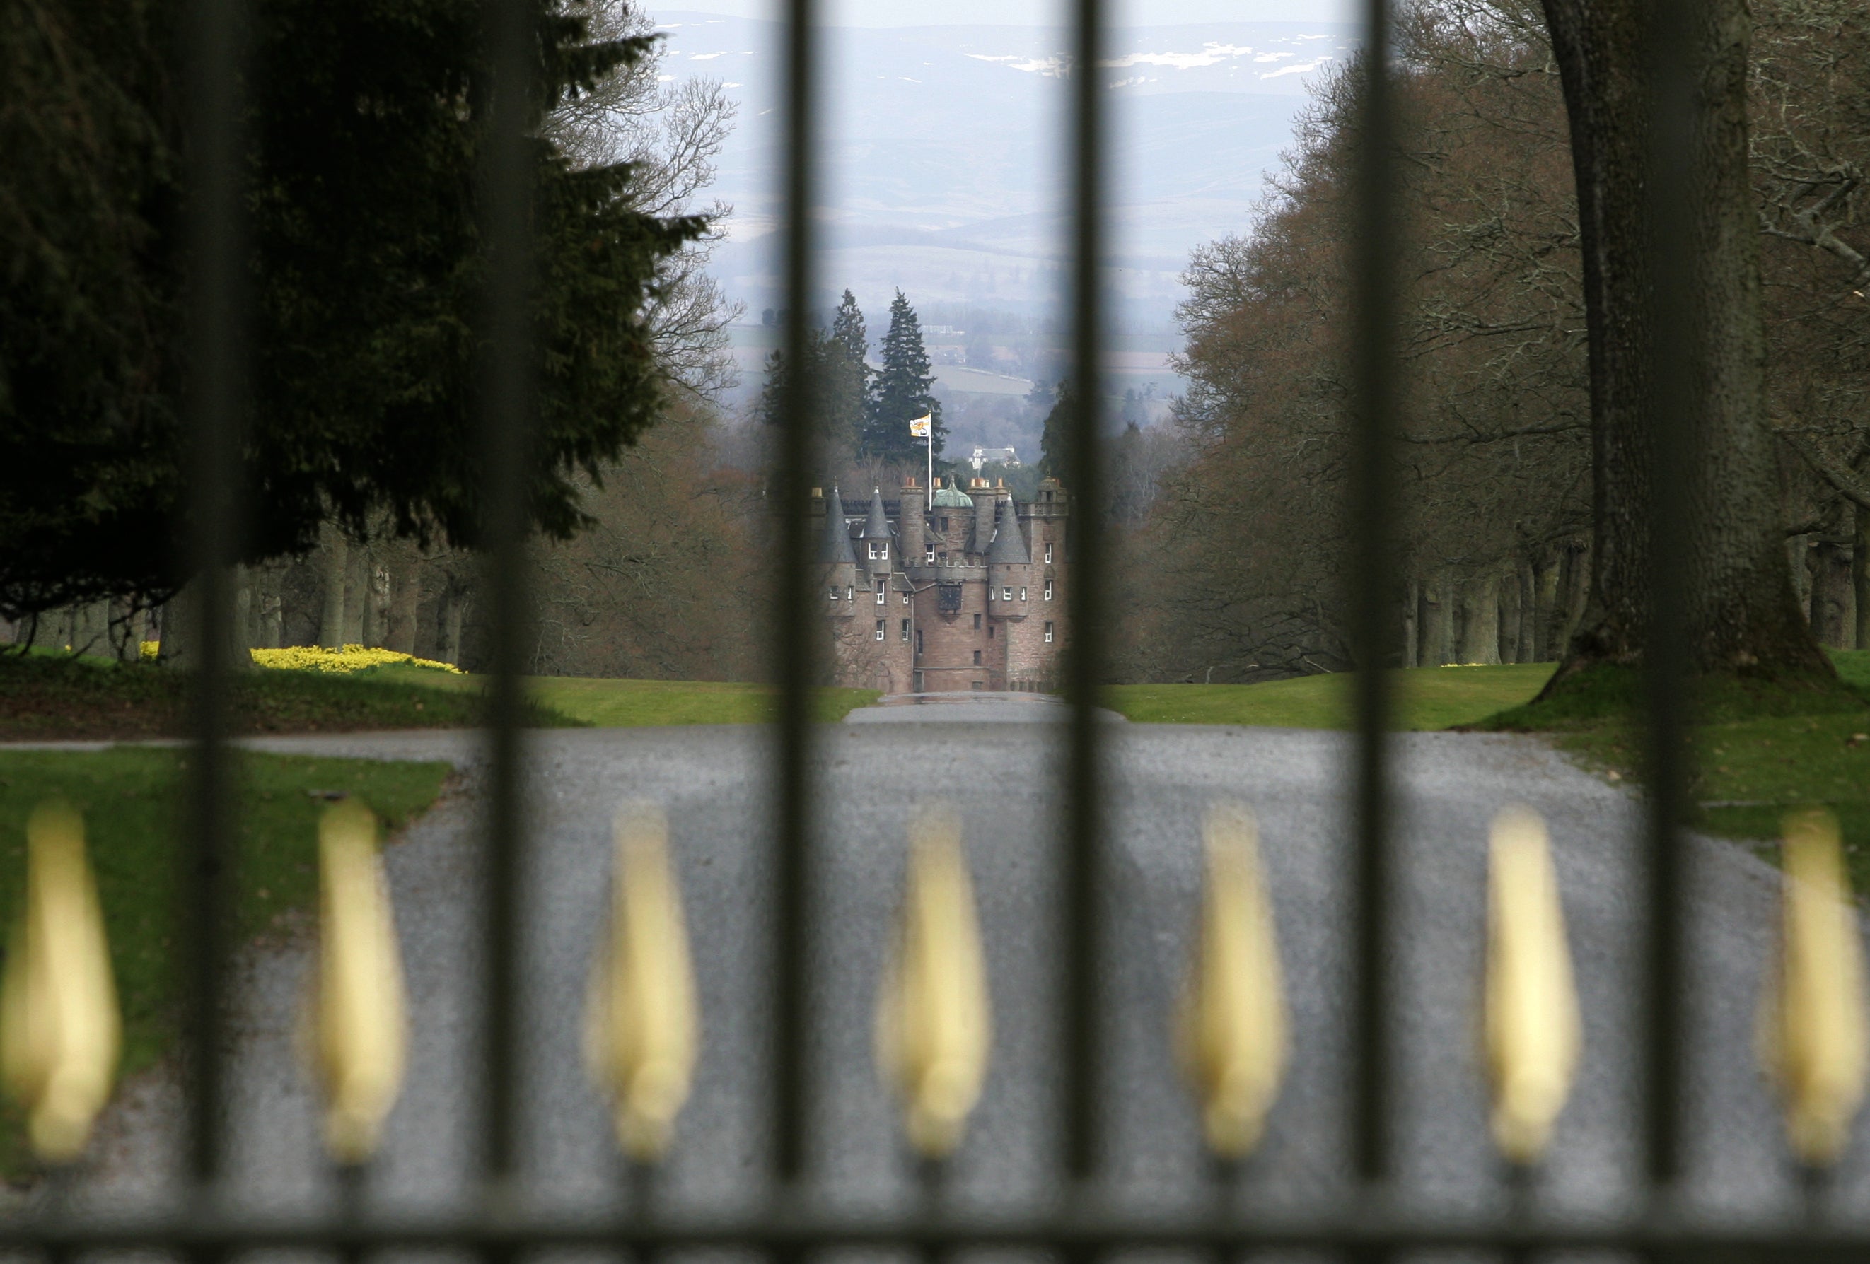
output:
[[[701,1043],[669,823],[654,804],[617,810],[608,942],[591,967],[585,1066],[617,1116],[617,1144],[640,1163],[669,1142]]]

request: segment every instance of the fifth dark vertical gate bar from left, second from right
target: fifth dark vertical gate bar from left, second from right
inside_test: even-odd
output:
[[[1389,656],[1401,645],[1393,600],[1395,400],[1395,144],[1389,90],[1389,2],[1363,6],[1363,101],[1356,166],[1352,273],[1350,656],[1356,664],[1358,754],[1352,785],[1352,1167],[1359,1180],[1389,1172]]]

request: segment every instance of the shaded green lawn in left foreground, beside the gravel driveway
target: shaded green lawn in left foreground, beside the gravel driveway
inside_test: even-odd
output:
[[[181,819],[181,750],[0,750],[0,911],[9,924],[24,892],[26,817],[64,797],[84,813],[86,843],[110,937],[123,1008],[123,1073],[157,1062],[176,1043],[170,961],[174,832]],[[342,791],[367,802],[391,830],[426,810],[449,776],[445,763],[383,763],[303,755],[241,755],[241,941],[290,927],[318,892],[316,823],[324,802],[309,791]],[[32,1167],[19,1111],[0,1113],[0,1178]]]

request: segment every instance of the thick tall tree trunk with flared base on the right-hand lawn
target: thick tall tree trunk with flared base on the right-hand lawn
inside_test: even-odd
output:
[[[1651,103],[1640,0],[1545,0],[1571,122],[1591,372],[1590,604],[1552,684],[1599,662],[1640,664],[1649,596],[1649,490],[1687,479],[1687,643],[1696,671],[1831,675],[1799,617],[1778,533],[1765,424],[1760,230],[1748,172],[1747,0],[1687,6],[1696,65],[1685,204],[1692,241],[1689,469],[1653,466],[1655,359],[1647,215]],[[1676,653],[1677,647],[1668,647]],[[1550,690],[1552,686],[1548,686]]]

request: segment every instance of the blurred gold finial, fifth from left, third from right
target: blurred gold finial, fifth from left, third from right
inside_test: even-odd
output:
[[[1206,881],[1176,1021],[1182,1070],[1219,1157],[1245,1157],[1279,1096],[1287,1058],[1279,939],[1260,869],[1259,826],[1236,802],[1208,808]]]

